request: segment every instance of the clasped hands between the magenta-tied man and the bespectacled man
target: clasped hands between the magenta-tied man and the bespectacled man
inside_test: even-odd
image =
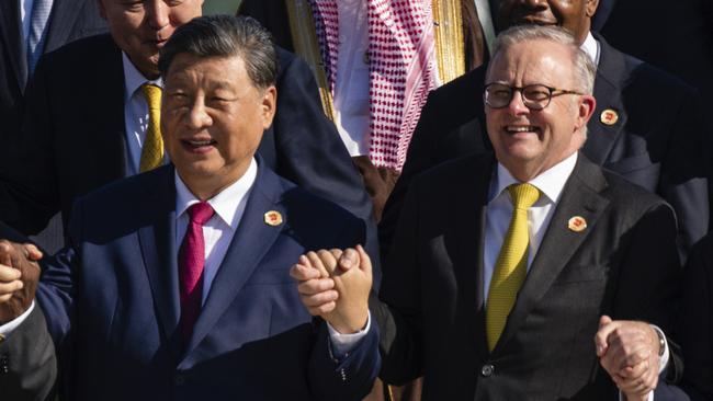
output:
[[[320,316],[342,334],[364,328],[372,265],[361,245],[344,252],[308,252],[299,256],[290,274],[297,280],[299,297],[310,314]]]

